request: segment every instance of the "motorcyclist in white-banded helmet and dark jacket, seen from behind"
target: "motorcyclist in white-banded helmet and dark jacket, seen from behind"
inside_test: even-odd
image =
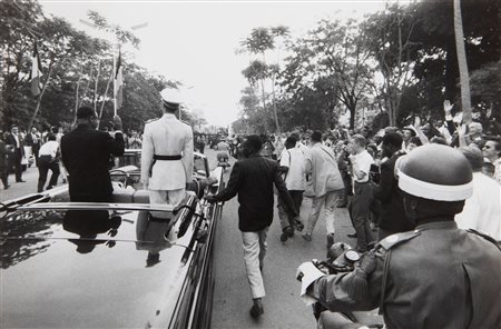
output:
[[[458,229],[454,216],[473,190],[464,156],[450,147],[419,147],[396,163],[414,231],[389,236],[352,272],[325,276],[299,266],[302,291],[328,310],[321,328],[361,328],[335,313],[371,310],[386,328],[501,328],[501,250],[488,236]]]

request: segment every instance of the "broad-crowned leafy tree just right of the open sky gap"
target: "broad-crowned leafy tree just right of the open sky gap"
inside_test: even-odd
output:
[[[311,87],[314,81],[328,80],[328,97],[350,111],[354,127],[358,101],[365,97],[373,79],[364,38],[354,20],[347,22],[322,20],[306,37],[292,42],[286,59],[283,84],[287,93]],[[327,94],[325,94],[327,97]],[[334,110],[334,102],[331,103]]]

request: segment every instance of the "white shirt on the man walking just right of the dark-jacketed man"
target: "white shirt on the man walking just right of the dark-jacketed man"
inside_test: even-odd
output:
[[[281,153],[281,167],[287,167],[285,185],[289,191],[304,191],[306,186],[305,158],[298,148],[284,149]]]

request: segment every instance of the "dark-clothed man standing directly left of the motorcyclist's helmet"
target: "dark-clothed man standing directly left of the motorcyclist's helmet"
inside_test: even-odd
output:
[[[386,133],[383,137],[383,157],[387,160],[381,164],[380,185],[373,187],[374,198],[381,201],[377,235],[380,241],[387,236],[414,229],[405,216],[402,191],[395,178],[396,159],[405,154],[402,151],[402,136],[396,132]]]

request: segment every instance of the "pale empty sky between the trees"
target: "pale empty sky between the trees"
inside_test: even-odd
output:
[[[126,48],[129,62],[154,74],[180,81],[189,110],[209,124],[226,127],[238,117],[242,76],[248,54],[239,43],[254,28],[286,26],[293,37],[305,36],[321,19],[362,18],[384,8],[373,1],[56,1],[40,0],[46,13],[68,20],[90,36],[111,39],[80,20],[95,10],[109,23],[129,28],[141,42]],[[125,81],[127,83],[127,81]],[[125,84],[127,88],[127,84]]]

